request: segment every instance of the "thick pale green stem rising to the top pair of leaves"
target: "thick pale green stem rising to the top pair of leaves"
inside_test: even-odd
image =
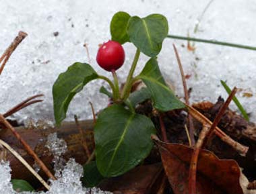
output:
[[[132,84],[131,80],[133,79],[133,72],[134,72],[134,70],[137,66],[137,62],[139,60],[139,54],[140,54],[140,51],[139,51],[139,49],[137,49],[136,54],[135,54],[134,59],[133,59],[133,64],[131,64],[131,69],[129,71],[129,75],[127,77],[125,86],[123,87],[121,99],[125,100],[129,96],[129,92],[131,90],[131,84]]]

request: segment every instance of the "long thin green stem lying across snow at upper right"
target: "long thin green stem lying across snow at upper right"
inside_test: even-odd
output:
[[[167,38],[173,38],[173,39],[178,39],[178,40],[190,40],[190,41],[194,41],[194,42],[204,42],[204,43],[208,43],[208,44],[218,44],[218,45],[222,45],[222,46],[230,46],[230,47],[235,47],[235,48],[256,50],[256,47],[254,47],[254,46],[233,44],[233,43],[229,43],[229,42],[220,42],[217,40],[206,40],[206,39],[201,39],[201,38],[191,38],[191,37],[186,37],[186,36],[175,36],[175,35],[168,35]]]

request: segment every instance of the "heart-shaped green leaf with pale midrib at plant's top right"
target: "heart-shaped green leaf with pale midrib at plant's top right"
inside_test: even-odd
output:
[[[152,14],[144,18],[131,17],[127,26],[130,41],[147,56],[158,55],[168,35],[168,21],[164,15]]]

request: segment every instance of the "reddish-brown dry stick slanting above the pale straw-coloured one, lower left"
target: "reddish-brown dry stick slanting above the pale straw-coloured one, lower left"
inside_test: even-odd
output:
[[[40,160],[40,158],[36,155],[36,153],[32,150],[32,148],[30,148],[30,146],[27,144],[27,142],[20,136],[20,134],[18,134],[18,132],[15,131],[15,129],[13,128],[13,126],[11,126],[11,124],[9,124],[9,122],[5,119],[5,117],[3,117],[3,115],[0,114],[0,122],[3,123],[5,125],[6,128],[8,128],[9,130],[11,130],[11,132],[13,133],[13,135],[22,143],[22,145],[24,146],[24,148],[26,149],[26,151],[28,152],[28,154],[30,154],[34,160],[36,160],[36,162],[39,164],[39,166],[42,168],[42,170],[44,171],[44,173],[53,180],[56,180],[56,178],[53,176],[53,174],[51,173],[51,171],[49,171],[49,169],[45,166],[44,162],[42,162],[42,160]]]

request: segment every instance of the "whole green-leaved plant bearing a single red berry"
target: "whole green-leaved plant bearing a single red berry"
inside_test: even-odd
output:
[[[75,62],[59,75],[53,85],[57,124],[61,124],[65,119],[74,95],[82,91],[90,81],[103,79],[112,89],[111,92],[103,87],[100,89],[100,92],[113,98],[114,104],[106,107],[98,115],[94,127],[96,163],[85,166],[85,172],[99,172],[97,180],[99,177],[122,175],[139,164],[152,150],[153,142],[150,136],[155,134],[156,130],[150,118],[135,113],[137,103],[151,99],[152,105],[158,111],[185,107],[166,85],[156,58],[168,34],[166,17],[160,14],[143,18],[131,17],[128,13],[120,11],[113,16],[110,33],[111,40],[99,48],[96,60],[102,68],[112,72],[113,81],[104,75],[98,75],[90,64]],[[131,42],[136,51],[127,81],[121,90],[116,70],[121,68],[125,60],[121,44],[126,42]],[[141,52],[149,56],[149,60],[140,74],[134,76],[133,72]],[[147,88],[130,93],[131,86],[138,80],[143,81]]]

